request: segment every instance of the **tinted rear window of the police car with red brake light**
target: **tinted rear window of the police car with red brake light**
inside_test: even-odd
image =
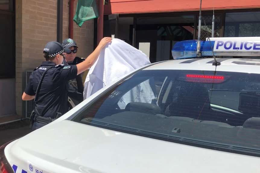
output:
[[[144,70],[108,91],[73,121],[258,155],[259,105],[259,74]]]

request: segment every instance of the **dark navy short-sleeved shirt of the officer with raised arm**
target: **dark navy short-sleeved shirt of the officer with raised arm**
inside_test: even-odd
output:
[[[43,61],[40,67],[31,73],[24,90],[28,95],[35,95],[40,78],[44,71],[55,66],[53,62]],[[76,65],[53,67],[48,70],[38,91],[35,113],[44,117],[55,117],[55,113],[68,111],[68,81],[77,76]]]

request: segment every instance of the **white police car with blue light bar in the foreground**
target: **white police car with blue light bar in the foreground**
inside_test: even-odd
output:
[[[136,70],[5,144],[1,171],[259,173],[260,38],[212,38],[202,58],[196,44],[176,43],[179,60]]]

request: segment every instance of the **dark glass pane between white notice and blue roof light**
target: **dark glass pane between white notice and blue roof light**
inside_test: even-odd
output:
[[[182,40],[193,39],[194,15],[168,17],[138,17],[135,46],[150,43],[150,61],[158,62],[173,59],[171,49]]]

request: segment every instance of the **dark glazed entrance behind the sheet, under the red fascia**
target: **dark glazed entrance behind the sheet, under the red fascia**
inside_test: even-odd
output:
[[[123,39],[143,51],[151,63],[170,60],[176,42],[194,39],[195,15],[171,17],[104,17],[104,36]]]

